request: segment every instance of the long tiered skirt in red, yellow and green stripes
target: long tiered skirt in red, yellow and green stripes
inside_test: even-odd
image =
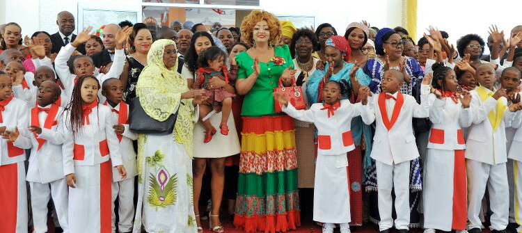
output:
[[[245,232],[285,232],[301,225],[294,120],[243,118],[234,225]]]

